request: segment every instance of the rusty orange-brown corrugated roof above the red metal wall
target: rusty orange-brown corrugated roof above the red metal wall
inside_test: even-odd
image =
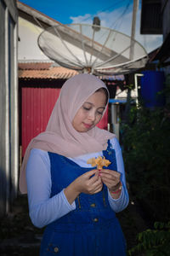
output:
[[[70,79],[78,74],[76,70],[53,67],[53,63],[19,63],[19,79]]]

